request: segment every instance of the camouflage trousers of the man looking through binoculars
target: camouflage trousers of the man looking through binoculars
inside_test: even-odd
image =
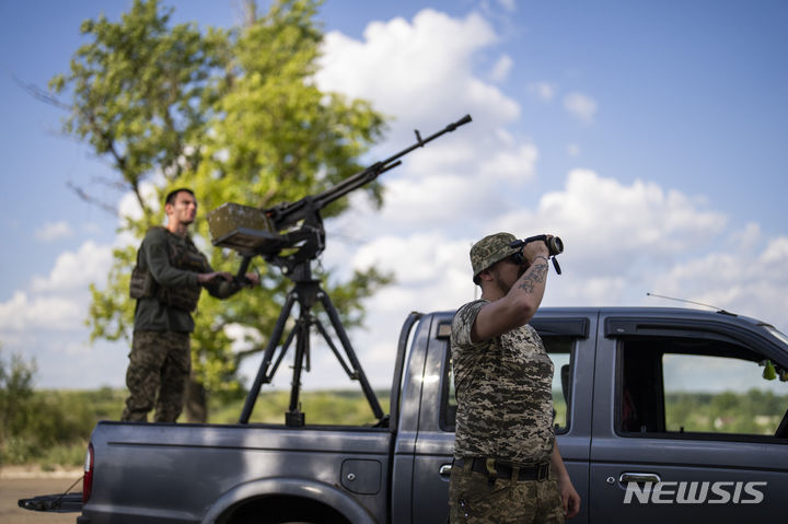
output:
[[[449,517],[452,524],[564,524],[558,484],[546,480],[497,478],[452,467],[449,482]]]

